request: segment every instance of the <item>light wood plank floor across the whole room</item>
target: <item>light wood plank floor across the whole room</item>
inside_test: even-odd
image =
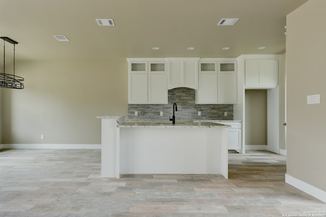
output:
[[[220,175],[100,177],[100,150],[0,150],[0,216],[285,216],[326,204],[284,182],[286,158],[229,154]],[[292,215],[293,216],[293,215]],[[326,213],[319,216],[326,216]]]

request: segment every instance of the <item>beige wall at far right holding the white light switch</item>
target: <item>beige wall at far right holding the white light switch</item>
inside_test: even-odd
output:
[[[287,16],[287,174],[326,191],[326,1]],[[307,95],[320,104],[307,105]]]

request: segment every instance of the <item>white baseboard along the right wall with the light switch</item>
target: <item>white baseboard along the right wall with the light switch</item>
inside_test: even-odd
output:
[[[288,174],[285,174],[285,182],[326,203],[326,192]]]

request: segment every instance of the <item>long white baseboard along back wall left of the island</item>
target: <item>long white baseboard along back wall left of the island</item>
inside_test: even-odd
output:
[[[2,144],[0,147],[8,149],[101,149],[100,144]]]

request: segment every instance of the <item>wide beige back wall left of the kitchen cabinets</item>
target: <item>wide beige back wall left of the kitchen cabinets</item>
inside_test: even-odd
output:
[[[3,89],[4,144],[100,144],[96,116],[127,114],[126,59],[17,61],[16,73],[25,88]]]

